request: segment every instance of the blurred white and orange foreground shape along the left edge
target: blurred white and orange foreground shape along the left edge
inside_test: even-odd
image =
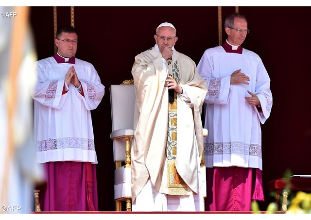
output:
[[[29,10],[0,7],[0,213],[32,211],[34,185],[43,180],[33,141],[35,78],[29,73],[37,57]]]

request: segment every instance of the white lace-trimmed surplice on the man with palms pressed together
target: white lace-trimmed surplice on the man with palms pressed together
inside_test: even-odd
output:
[[[62,95],[68,69],[74,66],[84,96],[70,84]],[[104,85],[92,64],[75,59],[75,64],[58,64],[53,57],[36,62],[35,139],[37,161],[81,161],[97,163],[90,110],[104,96]]]

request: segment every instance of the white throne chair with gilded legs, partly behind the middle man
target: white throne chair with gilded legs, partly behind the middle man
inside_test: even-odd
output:
[[[131,211],[131,157],[130,146],[134,136],[133,118],[135,90],[133,81],[110,86],[113,158],[116,165],[114,199],[115,210],[122,211],[122,201],[126,201],[126,211]]]

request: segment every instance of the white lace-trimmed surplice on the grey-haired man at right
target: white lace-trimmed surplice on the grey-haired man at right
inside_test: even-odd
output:
[[[246,49],[227,53],[218,46],[204,52],[197,68],[208,88],[206,166],[262,169],[260,122],[270,115],[272,93],[260,57]],[[249,85],[230,85],[230,75],[238,69],[250,78]],[[251,96],[247,90],[258,96],[262,112],[245,101]]]

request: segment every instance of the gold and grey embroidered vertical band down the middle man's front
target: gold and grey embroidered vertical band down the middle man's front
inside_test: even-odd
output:
[[[180,82],[179,69],[177,61],[168,63],[169,74],[173,76],[177,83]],[[168,188],[170,195],[188,195],[187,185],[178,174],[175,162],[177,157],[177,95],[174,91],[174,102],[169,102],[169,117],[168,117],[168,136],[166,145],[166,162],[168,175]]]

